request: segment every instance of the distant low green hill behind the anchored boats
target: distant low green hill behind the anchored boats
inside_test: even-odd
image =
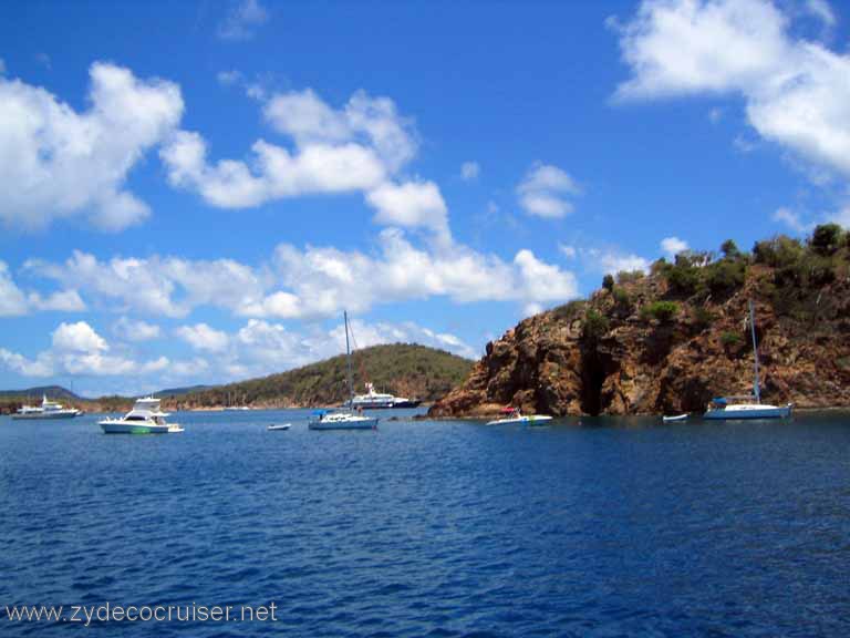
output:
[[[460,383],[473,362],[425,346],[395,343],[357,350],[352,356],[355,392],[363,392],[364,375],[380,392],[434,401]],[[230,383],[172,399],[174,407],[191,409],[226,405],[320,407],[348,398],[345,356],[297,370]]]

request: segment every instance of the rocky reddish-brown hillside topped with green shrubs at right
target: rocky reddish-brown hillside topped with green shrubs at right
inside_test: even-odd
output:
[[[562,414],[702,411],[748,393],[756,308],[763,400],[850,405],[850,234],[819,226],[801,243],[776,236],[740,253],[687,251],[651,274],[603,287],[520,322],[487,344],[469,378],[433,416],[486,415],[504,405]]]

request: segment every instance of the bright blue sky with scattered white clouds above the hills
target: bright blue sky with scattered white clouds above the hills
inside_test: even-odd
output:
[[[605,272],[850,226],[827,0],[0,3],[0,388],[469,358]]]

